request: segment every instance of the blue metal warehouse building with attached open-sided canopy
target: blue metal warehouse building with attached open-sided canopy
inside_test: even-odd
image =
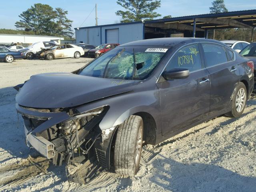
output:
[[[124,44],[131,41],[162,37],[207,38],[209,29],[250,28],[256,26],[256,10],[217,14],[202,14],[176,18],[150,20],[75,28],[76,43],[99,45]]]

